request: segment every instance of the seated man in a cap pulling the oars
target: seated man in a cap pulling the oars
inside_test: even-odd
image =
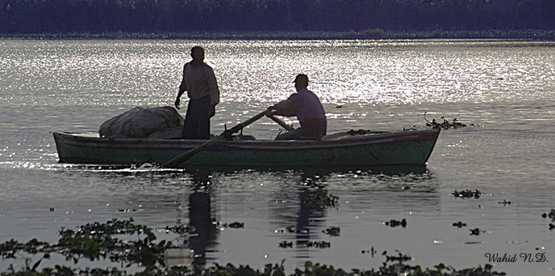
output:
[[[307,89],[308,77],[298,74],[295,77],[297,93],[268,107],[268,114],[297,116],[300,128],[277,136],[276,140],[319,139],[326,135],[327,119],[324,107],[318,96]]]

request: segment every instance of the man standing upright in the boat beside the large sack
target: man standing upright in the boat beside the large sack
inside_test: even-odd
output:
[[[184,139],[210,139],[210,118],[216,114],[216,104],[220,102],[220,89],[212,67],[204,63],[204,48],[191,48],[193,60],[183,67],[183,80],[179,85],[179,93],[175,107],[179,109],[179,99],[186,91],[189,105],[185,115],[183,132]]]

